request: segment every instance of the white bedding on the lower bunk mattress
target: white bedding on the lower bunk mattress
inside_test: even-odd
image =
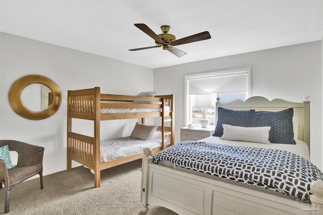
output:
[[[165,138],[165,146],[171,144],[169,138]],[[100,141],[100,162],[108,162],[117,158],[127,157],[141,153],[145,148],[156,149],[161,147],[161,138],[141,140],[131,137],[106,139]]]

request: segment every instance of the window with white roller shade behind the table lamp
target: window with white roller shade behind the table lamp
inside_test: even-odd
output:
[[[202,117],[215,124],[215,105],[251,95],[251,68],[212,71],[185,76],[185,124],[199,124]]]

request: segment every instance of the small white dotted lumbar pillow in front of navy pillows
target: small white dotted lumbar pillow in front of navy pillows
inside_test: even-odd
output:
[[[235,140],[235,141],[247,141],[247,142],[259,142],[260,144],[271,144],[268,140],[270,126],[265,127],[240,127],[222,124],[223,135],[221,139]]]

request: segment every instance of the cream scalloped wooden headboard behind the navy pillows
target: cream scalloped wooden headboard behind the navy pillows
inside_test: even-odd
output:
[[[301,103],[288,102],[282,99],[269,101],[261,96],[250,97],[246,101],[236,100],[228,103],[221,103],[217,99],[216,103],[216,122],[218,121],[218,107],[232,110],[250,110],[255,111],[280,111],[288,108],[294,108],[294,117],[299,117],[298,139],[303,140],[310,147],[310,102]]]

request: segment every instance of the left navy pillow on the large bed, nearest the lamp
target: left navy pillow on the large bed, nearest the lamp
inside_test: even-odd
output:
[[[250,127],[254,110],[231,110],[218,107],[218,123],[213,136],[222,136],[222,124]]]

